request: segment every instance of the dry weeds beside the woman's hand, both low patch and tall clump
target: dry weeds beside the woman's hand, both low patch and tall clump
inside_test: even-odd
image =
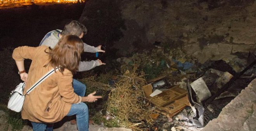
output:
[[[93,91],[102,92],[102,97],[108,95],[106,104],[103,106],[106,113],[96,112],[93,107],[97,105],[88,103],[90,113],[95,113],[90,119],[97,124],[104,123],[107,127],[125,127],[135,130],[152,125],[151,106],[145,102],[147,100],[142,91],[142,86],[146,84],[144,72],[137,73],[136,64],[121,66],[120,71],[82,80],[87,86],[86,95]],[[117,79],[109,84],[111,76],[116,76]]]

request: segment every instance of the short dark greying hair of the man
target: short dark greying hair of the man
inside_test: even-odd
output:
[[[73,20],[69,23],[67,23],[62,30],[61,34],[62,35],[76,35],[80,36],[82,33],[86,34],[87,29],[85,25],[81,24],[80,22]]]

